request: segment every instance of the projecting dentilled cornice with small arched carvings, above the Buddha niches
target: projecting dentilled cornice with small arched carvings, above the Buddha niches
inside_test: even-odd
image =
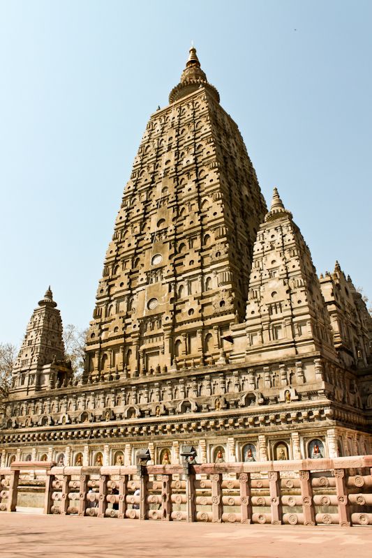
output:
[[[133,408],[135,410],[135,408]],[[342,409],[333,409],[330,407],[311,407],[311,409],[294,409],[292,412],[271,412],[260,414],[249,414],[239,416],[237,414],[226,416],[212,416],[201,418],[195,414],[186,414],[180,421],[175,420],[171,416],[159,417],[154,422],[154,418],[148,422],[146,418],[133,416],[128,422],[112,418],[116,420],[115,424],[105,421],[105,425],[96,423],[88,413],[83,414],[80,422],[73,423],[69,420],[68,414],[64,415],[58,429],[56,424],[52,424],[50,416],[42,417],[42,425],[34,425],[32,430],[15,430],[16,425],[14,419],[8,419],[6,429],[13,432],[7,433],[6,430],[0,433],[1,444],[18,444],[20,442],[57,442],[61,440],[94,440],[94,439],[122,439],[123,437],[131,437],[131,439],[141,439],[143,437],[154,436],[174,436],[180,435],[203,435],[208,432],[216,435],[234,434],[237,429],[244,430],[255,428],[256,433],[265,432],[267,427],[278,428],[283,431],[291,432],[292,429],[298,428],[298,425],[304,424],[311,428],[321,428],[329,425],[329,421],[342,421],[344,425],[355,425],[366,427],[366,421],[353,412],[347,412]],[[132,421],[132,422],[131,422]],[[75,426],[75,428],[74,428]],[[49,427],[49,428],[47,428]],[[274,432],[274,430],[273,430]]]

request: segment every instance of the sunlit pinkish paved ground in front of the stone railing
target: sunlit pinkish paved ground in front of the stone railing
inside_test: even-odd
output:
[[[0,514],[1,558],[371,556],[372,527],[186,524],[28,513]]]

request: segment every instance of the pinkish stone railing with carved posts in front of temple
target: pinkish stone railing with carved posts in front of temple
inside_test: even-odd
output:
[[[372,455],[298,461],[0,469],[0,510],[20,474],[44,472],[44,513],[140,520],[372,525]]]

